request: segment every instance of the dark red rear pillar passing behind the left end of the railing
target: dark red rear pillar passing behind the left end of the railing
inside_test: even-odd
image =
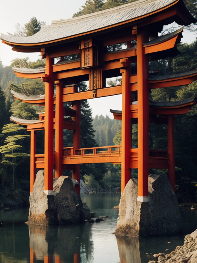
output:
[[[81,137],[81,101],[76,100],[71,107],[75,110],[75,117],[72,120],[75,121],[76,130],[73,131],[73,147],[74,149],[80,148]],[[80,183],[80,164],[76,164],[76,169],[72,170],[72,178],[76,179]],[[80,196],[80,185],[75,186],[76,193]]]

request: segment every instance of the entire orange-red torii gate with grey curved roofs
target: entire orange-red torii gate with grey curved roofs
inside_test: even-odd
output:
[[[196,22],[182,0],[143,0],[82,17],[53,21],[51,26],[44,27],[31,37],[1,36],[2,42],[12,46],[15,51],[40,52],[42,57],[46,58],[46,67],[42,69],[14,68],[18,77],[41,78],[45,82],[45,97],[42,98],[27,98],[13,92],[16,98],[24,102],[45,105],[45,113],[43,116],[40,115],[41,120],[38,123],[26,122],[28,130],[31,130],[31,191],[35,179],[35,167],[39,162],[36,158],[42,158],[39,164],[42,163],[45,170],[45,193],[53,195],[54,165],[56,177],[62,175],[62,170],[67,165],[72,169],[73,178],[79,181],[80,163],[86,161],[93,163],[98,160],[101,162],[102,157],[105,158],[105,162],[122,164],[123,191],[131,177],[130,169],[136,164],[131,148],[131,123],[135,119],[138,122],[138,150],[137,157],[135,156],[138,167],[138,201],[148,201],[149,159],[154,157],[149,155],[148,148],[149,121],[152,114],[169,116],[169,147],[166,158],[169,159],[169,178],[174,189],[174,148],[171,144],[173,114],[187,112],[195,100],[191,100],[189,104],[179,105],[180,107],[175,105],[151,107],[149,90],[189,84],[197,79],[197,72],[152,77],[149,76],[148,69],[149,61],[179,54],[176,47],[182,37],[183,27],[158,37],[163,25],[173,21],[180,25]],[[115,47],[114,45],[118,43],[124,43],[122,47],[125,49],[107,52],[107,47]],[[80,58],[65,60],[66,56],[73,54],[80,54]],[[58,57],[61,58],[60,61],[54,64],[54,58]],[[137,72],[131,72],[131,63],[137,63]],[[122,76],[122,84],[106,87],[106,78],[117,76]],[[78,92],[74,84],[86,80],[89,80],[89,90]],[[116,94],[122,94],[121,150],[118,153],[113,152],[111,148],[115,146],[106,146],[109,156],[97,156],[99,150],[94,148],[92,149],[94,156],[85,156],[86,149],[80,148],[80,100]],[[131,100],[136,104],[131,104]],[[71,108],[74,110],[72,124],[64,121],[64,102],[72,102]],[[24,120],[14,121],[25,125]],[[54,128],[56,130],[55,158]],[[63,150],[64,128],[73,130],[73,149],[70,149],[69,156],[64,155],[66,151],[68,153],[68,149]],[[36,156],[35,134],[38,129],[45,131],[45,153],[42,157]],[[157,150],[156,152],[158,153]],[[77,192],[79,194],[80,189]]]

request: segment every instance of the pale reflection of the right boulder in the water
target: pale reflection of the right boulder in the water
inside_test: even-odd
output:
[[[141,263],[138,237],[116,236],[120,263]]]

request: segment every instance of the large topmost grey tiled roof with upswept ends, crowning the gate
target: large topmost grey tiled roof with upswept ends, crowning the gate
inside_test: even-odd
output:
[[[175,2],[177,0],[139,0],[134,3],[95,12],[94,14],[53,21],[50,26],[44,26],[33,36],[18,37],[2,34],[1,39],[15,44],[39,44],[54,41],[112,26],[131,19],[136,20],[144,15],[168,7]],[[179,2],[183,3],[182,0],[179,0]],[[191,22],[195,22],[195,19],[186,8],[185,12]]]

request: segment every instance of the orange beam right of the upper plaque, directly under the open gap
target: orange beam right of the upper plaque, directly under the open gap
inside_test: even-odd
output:
[[[123,49],[122,51],[107,52],[102,55],[102,62],[136,56],[136,49]]]

